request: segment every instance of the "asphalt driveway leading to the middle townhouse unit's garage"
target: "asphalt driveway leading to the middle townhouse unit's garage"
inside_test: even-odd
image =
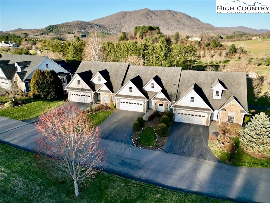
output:
[[[125,110],[113,112],[99,125],[102,139],[133,145],[131,141],[133,123],[137,117],[143,115],[142,112]]]

